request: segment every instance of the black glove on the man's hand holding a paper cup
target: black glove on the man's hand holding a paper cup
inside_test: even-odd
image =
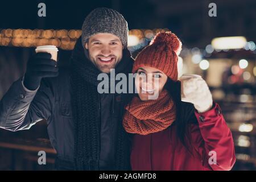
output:
[[[23,84],[29,90],[35,90],[44,77],[56,77],[59,75],[59,68],[51,54],[39,52],[32,56],[27,62],[27,71]]]

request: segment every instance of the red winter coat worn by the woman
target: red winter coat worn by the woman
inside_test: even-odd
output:
[[[175,123],[166,130],[148,135],[133,135],[133,170],[230,170],[235,161],[232,133],[218,104],[205,113],[197,113],[189,104],[185,119],[191,123],[193,156],[177,140]],[[195,114],[194,114],[195,113]],[[213,152],[210,152],[213,151]],[[216,152],[216,153],[215,153]],[[211,158],[216,154],[216,163]],[[214,157],[214,156],[213,156]]]

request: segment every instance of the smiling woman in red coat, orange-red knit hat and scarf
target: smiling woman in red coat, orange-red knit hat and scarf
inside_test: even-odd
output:
[[[230,170],[236,160],[232,133],[206,82],[200,77],[182,79],[186,102],[181,101],[180,50],[175,34],[161,32],[135,59],[138,95],[123,118],[125,130],[134,134],[131,168]]]

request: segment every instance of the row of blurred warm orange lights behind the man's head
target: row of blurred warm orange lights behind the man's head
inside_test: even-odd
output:
[[[130,30],[128,47],[135,51],[147,45],[158,32],[169,31],[167,28],[154,30]],[[81,30],[30,30],[30,29],[2,29],[0,31],[0,46],[37,47],[53,45],[61,49],[71,50],[76,40],[81,36]]]

